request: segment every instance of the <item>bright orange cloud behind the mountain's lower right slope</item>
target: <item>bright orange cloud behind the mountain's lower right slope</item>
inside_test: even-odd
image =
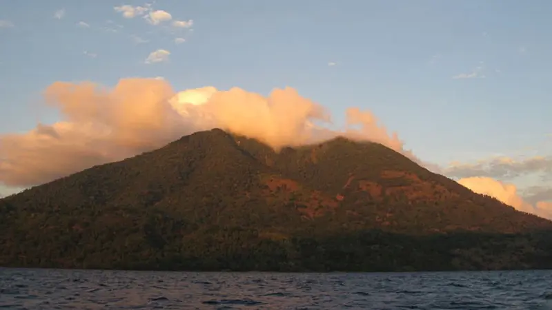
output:
[[[497,198],[497,200],[502,201],[502,203],[511,205],[518,211],[524,211],[552,220],[552,203],[540,201],[535,203],[535,205],[531,205],[517,194],[517,188],[513,184],[502,183],[493,178],[480,176],[473,178],[462,178],[458,180],[458,183],[471,189],[477,194],[493,196],[494,198]]]

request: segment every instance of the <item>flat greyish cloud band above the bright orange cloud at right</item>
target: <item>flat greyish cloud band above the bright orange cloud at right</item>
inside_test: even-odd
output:
[[[509,157],[496,157],[477,163],[453,163],[443,173],[457,178],[489,176],[491,178],[515,178],[524,174],[552,174],[552,157],[534,156],[515,161]]]

